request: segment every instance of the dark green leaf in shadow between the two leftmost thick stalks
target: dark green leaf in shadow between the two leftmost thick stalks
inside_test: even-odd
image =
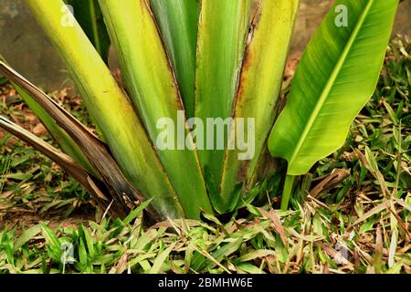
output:
[[[110,36],[101,15],[99,0],[64,0],[73,7],[74,17],[89,36],[104,62],[109,62]]]

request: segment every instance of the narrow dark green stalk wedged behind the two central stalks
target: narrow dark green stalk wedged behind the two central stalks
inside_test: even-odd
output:
[[[150,3],[173,63],[186,116],[194,117],[198,1],[151,0]]]

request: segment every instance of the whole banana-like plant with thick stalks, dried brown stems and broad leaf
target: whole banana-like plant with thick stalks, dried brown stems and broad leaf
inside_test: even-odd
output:
[[[124,216],[150,200],[155,220],[198,219],[250,203],[268,149],[288,161],[287,208],[294,177],[342,145],[371,96],[398,4],[336,1],[276,121],[299,0],[99,0],[98,10],[97,1],[83,2],[101,11],[125,88],[106,66],[96,30],[81,28],[84,19],[63,24],[62,0],[25,1],[101,136],[3,61],[0,72],[61,151],[4,117],[0,127],[57,162],[101,208]]]

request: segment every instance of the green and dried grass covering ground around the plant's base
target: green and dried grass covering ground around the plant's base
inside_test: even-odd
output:
[[[113,220],[95,214],[52,162],[5,135],[0,273],[411,273],[410,48],[405,37],[392,41],[346,144],[300,177],[288,212],[271,208],[282,187],[273,176],[253,190],[258,206],[228,218],[145,227],[140,206]],[[2,114],[31,127],[21,100],[3,104]]]

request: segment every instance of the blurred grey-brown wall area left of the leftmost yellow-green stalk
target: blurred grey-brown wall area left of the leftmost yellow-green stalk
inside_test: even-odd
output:
[[[57,51],[23,0],[0,0],[0,39],[0,54],[37,86],[60,89],[66,85],[68,74]]]

